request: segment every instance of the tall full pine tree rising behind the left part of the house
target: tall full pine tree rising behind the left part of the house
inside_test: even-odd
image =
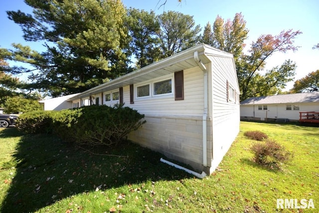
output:
[[[25,0],[33,14],[8,11],[26,41],[45,42],[38,53],[15,44],[11,59],[27,62],[37,73],[30,88],[53,96],[85,91],[129,71],[126,10],[121,0]],[[15,67],[15,72],[32,71]]]

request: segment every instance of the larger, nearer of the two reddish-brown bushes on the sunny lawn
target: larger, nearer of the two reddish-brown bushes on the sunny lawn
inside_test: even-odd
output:
[[[263,166],[276,166],[291,160],[292,153],[274,140],[266,140],[252,145],[254,161]]]

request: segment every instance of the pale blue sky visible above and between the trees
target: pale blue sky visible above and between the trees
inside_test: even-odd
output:
[[[295,53],[277,53],[267,61],[268,69],[280,66],[285,59],[297,63],[295,80],[304,77],[309,72],[319,69],[319,49],[312,47],[319,43],[319,1],[318,0],[122,0],[125,6],[154,10],[160,14],[163,11],[175,10],[192,15],[195,23],[202,28],[209,21],[214,22],[217,15],[224,19],[233,19],[236,12],[241,12],[247,21],[249,29],[247,46],[262,34],[279,34],[282,30],[300,30],[303,34],[295,39],[295,45],[301,46]],[[23,0],[0,0],[0,47],[10,48],[10,44],[22,43],[41,51],[40,42],[25,42],[20,27],[7,18],[7,10],[20,9],[31,12]],[[287,89],[293,82],[287,85]]]

